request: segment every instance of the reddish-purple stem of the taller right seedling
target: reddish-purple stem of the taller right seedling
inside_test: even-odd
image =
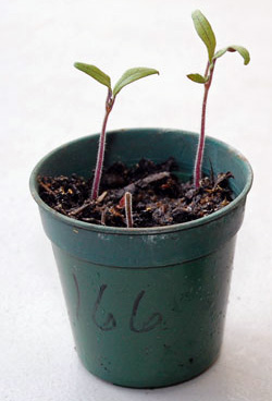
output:
[[[212,82],[214,64],[215,64],[215,60],[213,60],[213,66],[210,69],[209,81],[205,84],[205,94],[203,94],[202,113],[201,113],[201,131],[200,131],[198,147],[197,147],[197,156],[196,156],[195,170],[194,170],[194,184],[196,189],[200,186],[200,180],[201,180],[203,149],[205,149],[206,108],[207,108],[208,94],[209,94],[209,89],[210,89],[211,82]],[[210,68],[210,62],[208,62],[207,68],[206,68],[206,72],[205,72],[206,77],[208,76],[209,68]]]

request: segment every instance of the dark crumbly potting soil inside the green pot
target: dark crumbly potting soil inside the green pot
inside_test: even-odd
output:
[[[39,177],[42,200],[73,219],[111,227],[126,227],[124,194],[132,194],[133,227],[159,227],[196,220],[232,202],[228,180],[231,172],[205,177],[199,189],[191,182],[181,182],[172,172],[176,162],[163,163],[141,159],[127,167],[115,162],[103,174],[100,195],[90,199],[92,179],[72,177]]]

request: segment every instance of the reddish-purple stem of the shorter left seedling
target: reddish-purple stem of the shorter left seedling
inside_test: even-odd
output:
[[[99,138],[97,165],[96,165],[95,178],[94,178],[92,189],[91,189],[91,199],[92,200],[95,200],[99,195],[99,187],[100,187],[100,181],[101,181],[102,169],[103,169],[104,147],[106,147],[106,129],[107,129],[107,122],[109,119],[109,114],[114,105],[114,100],[115,98],[112,97],[112,92],[111,89],[109,89],[108,97],[106,100],[106,114],[103,119],[102,131],[101,131],[100,138]]]

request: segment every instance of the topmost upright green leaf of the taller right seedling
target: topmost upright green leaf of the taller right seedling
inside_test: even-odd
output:
[[[211,62],[217,46],[217,39],[212,27],[200,10],[194,11],[191,17],[198,36],[207,47],[209,61]]]

